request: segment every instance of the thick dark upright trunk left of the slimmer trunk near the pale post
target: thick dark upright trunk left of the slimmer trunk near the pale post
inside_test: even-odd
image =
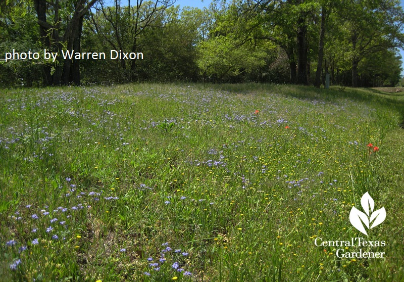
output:
[[[297,20],[297,83],[307,85],[307,26],[305,18]]]

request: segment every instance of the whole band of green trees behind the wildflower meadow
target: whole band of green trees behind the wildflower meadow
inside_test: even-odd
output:
[[[275,82],[351,86],[400,81],[404,13],[396,0],[7,0],[0,52],[58,53],[1,61],[3,86],[135,81]],[[104,52],[66,59],[62,50]],[[110,60],[110,50],[143,60]]]

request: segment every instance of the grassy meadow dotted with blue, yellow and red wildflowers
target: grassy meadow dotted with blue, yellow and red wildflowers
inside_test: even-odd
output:
[[[0,90],[0,280],[404,281],[403,120],[365,89]],[[316,244],[351,238],[384,256]]]

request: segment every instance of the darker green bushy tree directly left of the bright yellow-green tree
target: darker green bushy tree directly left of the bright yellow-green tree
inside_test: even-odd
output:
[[[201,18],[199,9],[179,7],[166,9],[154,24],[139,38],[139,44],[148,46],[144,56],[147,60],[138,62],[139,80],[195,81],[196,43],[200,40]]]

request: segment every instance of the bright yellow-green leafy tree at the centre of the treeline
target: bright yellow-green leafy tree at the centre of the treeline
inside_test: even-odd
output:
[[[204,79],[239,81],[237,77],[265,65],[273,44],[257,40],[254,18],[242,14],[235,3],[212,6],[215,19],[206,40],[198,44],[197,64]]]

